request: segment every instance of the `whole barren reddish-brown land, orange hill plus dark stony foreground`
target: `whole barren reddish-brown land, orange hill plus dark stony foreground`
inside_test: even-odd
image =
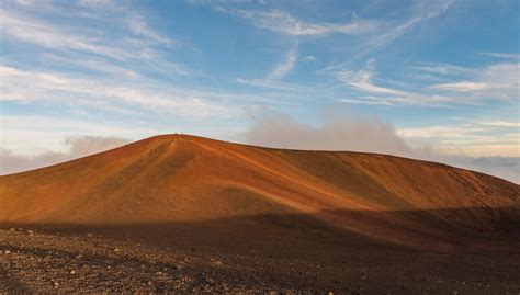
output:
[[[0,177],[0,291],[520,292],[519,185],[151,137]]]

